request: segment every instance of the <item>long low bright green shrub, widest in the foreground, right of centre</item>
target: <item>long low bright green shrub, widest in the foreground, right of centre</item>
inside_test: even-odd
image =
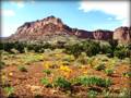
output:
[[[108,87],[111,85],[111,81],[109,78],[105,79],[97,76],[80,76],[74,81],[74,84],[81,84],[84,86]]]

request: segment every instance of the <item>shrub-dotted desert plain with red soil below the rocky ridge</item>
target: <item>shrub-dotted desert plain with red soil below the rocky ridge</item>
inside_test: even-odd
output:
[[[130,98],[131,45],[0,44],[1,98]]]

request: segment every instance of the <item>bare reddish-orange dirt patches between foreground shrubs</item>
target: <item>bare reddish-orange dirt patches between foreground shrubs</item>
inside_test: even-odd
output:
[[[57,88],[47,88],[43,84],[40,84],[40,79],[45,77],[44,74],[44,65],[43,62],[36,62],[32,65],[26,65],[27,72],[21,72],[17,70],[16,65],[9,65],[1,70],[1,74],[4,74],[8,77],[8,82],[11,86],[15,89],[15,97],[19,98],[34,98],[34,94],[39,94],[40,98],[67,98],[67,94],[57,89]],[[69,78],[75,77],[82,70],[71,66],[73,73],[70,75]],[[116,72],[111,76],[107,76],[102,71],[96,71],[91,66],[86,65],[85,70],[87,70],[88,75],[98,75],[102,77],[110,77],[112,79],[112,85],[110,89],[117,91],[121,88],[129,88],[130,87],[130,78],[123,77],[122,73],[129,71],[129,65],[119,65],[116,69]],[[73,91],[78,91],[82,95],[82,90],[84,88],[80,86],[74,86]],[[1,90],[1,98],[5,98],[3,89]],[[38,97],[38,98],[39,98]],[[83,96],[84,97],[84,96]]]

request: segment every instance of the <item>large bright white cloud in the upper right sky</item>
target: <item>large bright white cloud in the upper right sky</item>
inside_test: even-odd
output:
[[[102,11],[114,15],[122,22],[122,26],[130,25],[130,2],[129,1],[81,1],[79,10],[84,12]]]

